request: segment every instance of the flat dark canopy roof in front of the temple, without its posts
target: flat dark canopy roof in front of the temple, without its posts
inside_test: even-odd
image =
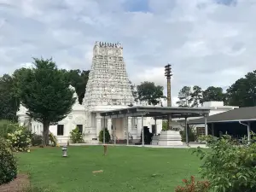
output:
[[[171,114],[172,118],[201,117],[210,113],[209,108],[176,108],[176,107],[152,107],[135,106],[102,112],[102,117],[122,118],[122,117],[156,117],[165,118]]]

